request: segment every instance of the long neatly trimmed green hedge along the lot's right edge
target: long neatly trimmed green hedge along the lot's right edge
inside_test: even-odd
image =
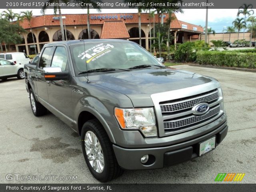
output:
[[[200,51],[196,53],[199,64],[256,68],[256,53],[228,51]]]

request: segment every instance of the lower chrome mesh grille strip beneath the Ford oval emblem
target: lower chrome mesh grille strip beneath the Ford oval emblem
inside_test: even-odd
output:
[[[219,112],[220,112],[220,104],[210,109],[205,115],[201,115],[201,116],[192,115],[186,118],[164,122],[164,130],[177,129],[177,128],[189,126],[189,125],[207,120],[209,118],[212,118],[213,116],[217,115]]]

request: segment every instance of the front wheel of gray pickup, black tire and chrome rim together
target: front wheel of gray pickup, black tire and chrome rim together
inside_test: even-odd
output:
[[[86,164],[97,180],[108,182],[123,173],[116,160],[112,143],[98,120],[84,123],[81,144]]]

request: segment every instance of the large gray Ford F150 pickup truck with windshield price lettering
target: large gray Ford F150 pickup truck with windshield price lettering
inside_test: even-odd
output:
[[[24,72],[34,115],[75,130],[101,182],[202,156],[228,132],[216,79],[166,68],[134,42],[49,43]]]

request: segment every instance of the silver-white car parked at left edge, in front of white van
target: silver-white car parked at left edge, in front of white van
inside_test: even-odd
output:
[[[24,79],[24,65],[14,64],[8,60],[0,58],[0,79],[6,80],[10,77]]]

